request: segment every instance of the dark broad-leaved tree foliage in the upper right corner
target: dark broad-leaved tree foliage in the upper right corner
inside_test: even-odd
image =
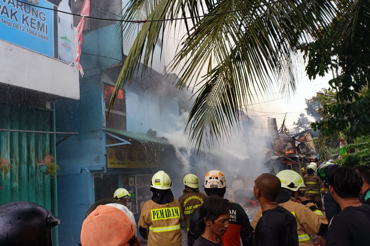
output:
[[[323,28],[316,42],[302,46],[310,77],[335,72],[329,84],[337,91],[336,102],[327,104],[326,117],[311,126],[327,135],[346,132],[356,138],[370,134],[370,1],[346,2],[339,12],[343,19]]]

